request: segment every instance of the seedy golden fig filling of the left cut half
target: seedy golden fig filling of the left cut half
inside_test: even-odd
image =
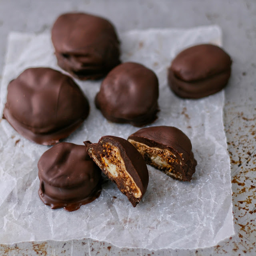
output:
[[[142,193],[134,182],[132,176],[126,170],[120,150],[109,142],[103,143],[102,148],[103,152],[100,154],[100,158],[96,157],[92,148],[89,148],[88,152],[92,155],[94,161],[102,171],[110,179],[114,180],[123,194],[130,194],[137,199],[140,198]]]

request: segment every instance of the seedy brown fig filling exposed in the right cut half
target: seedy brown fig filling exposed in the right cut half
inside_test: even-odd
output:
[[[178,172],[182,162],[170,150],[150,147],[131,139],[128,141],[142,154],[147,164],[175,179],[182,180],[182,174]],[[182,158],[182,154],[180,154],[180,157]]]

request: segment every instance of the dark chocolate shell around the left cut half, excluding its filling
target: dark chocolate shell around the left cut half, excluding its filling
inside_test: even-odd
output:
[[[138,152],[138,150],[136,150],[136,148],[130,142],[116,136],[103,136],[100,138],[98,143],[93,143],[93,144],[90,141],[84,142],[87,148],[87,151],[90,148],[94,150],[96,154],[96,158],[98,159],[98,162],[100,162],[100,155],[103,153],[102,145],[105,143],[110,143],[119,149],[121,157],[125,164],[126,171],[133,178],[135,184],[138,186],[143,196],[148,187],[148,168],[141,154]],[[90,154],[89,151],[88,153]],[[90,155],[90,157],[92,156]],[[104,172],[104,174],[107,175],[103,166],[99,166],[99,167],[101,168],[102,172]],[[115,182],[119,190],[122,191],[124,184],[120,184],[113,179],[112,181]],[[139,200],[141,199],[140,198],[139,200],[135,200],[131,194],[125,194],[125,195],[128,197],[128,199],[130,200],[130,202],[134,207],[138,204]]]

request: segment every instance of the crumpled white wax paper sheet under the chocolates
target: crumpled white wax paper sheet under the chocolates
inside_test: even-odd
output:
[[[132,30],[121,34],[120,40],[122,61],[140,62],[158,76],[160,112],[151,125],[176,126],[190,138],[198,162],[191,182],[173,180],[148,166],[148,189],[136,208],[115,184],[107,182],[100,197],[79,210],[52,210],[39,199],[37,168],[40,156],[50,146],[22,138],[6,120],[0,120],[0,243],[90,237],[120,247],[156,250],[213,246],[234,234],[222,120],[224,92],[182,100],[167,84],[167,68],[176,54],[193,44],[221,45],[220,28]],[[1,115],[8,82],[32,66],[60,70],[50,34],[10,33],[0,93]],[[65,141],[98,142],[104,135],[127,139],[138,130],[107,121],[95,108],[94,96],[101,81],[76,82],[90,101],[90,115]]]

